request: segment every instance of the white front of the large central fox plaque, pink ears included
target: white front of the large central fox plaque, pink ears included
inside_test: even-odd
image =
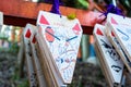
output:
[[[45,38],[63,82],[71,83],[82,37],[79,21],[40,11],[37,25],[40,26],[39,34]]]

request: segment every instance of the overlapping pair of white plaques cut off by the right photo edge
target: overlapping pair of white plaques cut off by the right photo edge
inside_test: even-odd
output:
[[[107,35],[115,48],[118,50],[118,53],[121,55],[127,69],[131,73],[130,26],[131,18],[129,17],[116,14],[109,14],[107,17]]]

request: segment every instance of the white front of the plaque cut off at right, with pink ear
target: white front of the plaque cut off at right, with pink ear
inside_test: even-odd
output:
[[[107,25],[109,25],[124,53],[131,61],[131,18],[109,13],[107,16]]]

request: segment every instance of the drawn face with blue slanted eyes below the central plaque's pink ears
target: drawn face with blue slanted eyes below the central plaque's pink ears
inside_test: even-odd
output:
[[[52,53],[52,58],[56,61],[63,80],[70,83],[70,78],[73,74],[72,70],[74,70],[76,62],[81,35],[75,34],[73,29],[53,26],[41,26],[41,28],[44,38]]]

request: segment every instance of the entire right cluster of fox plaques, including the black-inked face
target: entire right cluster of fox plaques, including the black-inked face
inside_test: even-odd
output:
[[[94,27],[95,50],[110,87],[123,85],[123,66],[131,73],[131,20],[109,13],[104,25]]]

